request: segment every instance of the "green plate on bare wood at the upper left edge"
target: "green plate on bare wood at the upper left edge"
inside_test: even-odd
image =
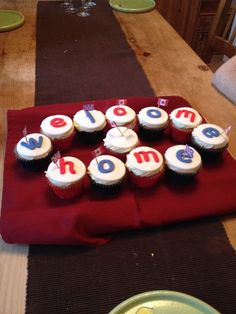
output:
[[[0,32],[20,27],[25,21],[22,13],[13,10],[0,10]]]

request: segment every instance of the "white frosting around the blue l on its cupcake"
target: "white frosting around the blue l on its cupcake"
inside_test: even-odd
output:
[[[94,118],[94,122],[91,122],[84,110],[76,112],[74,115],[74,126],[78,131],[83,132],[95,132],[100,131],[106,126],[105,115],[98,110],[91,110],[90,114]]]

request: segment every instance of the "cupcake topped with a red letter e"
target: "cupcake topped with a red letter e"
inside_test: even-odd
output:
[[[71,118],[61,114],[49,116],[40,127],[41,132],[50,138],[55,151],[65,151],[71,147],[75,136]]]

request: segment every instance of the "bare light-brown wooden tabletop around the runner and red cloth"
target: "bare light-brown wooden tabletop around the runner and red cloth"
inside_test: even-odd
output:
[[[20,10],[25,15],[25,24],[0,36],[0,195],[6,112],[34,105],[36,4],[34,0],[15,0],[10,4],[1,1],[2,9]],[[211,123],[232,125],[229,151],[236,159],[236,106],[211,86],[211,70],[205,69],[204,62],[156,10],[114,14],[156,95],[182,96]],[[236,250],[236,215],[222,222]],[[0,239],[1,313],[25,312],[27,256],[27,245],[8,245]]]

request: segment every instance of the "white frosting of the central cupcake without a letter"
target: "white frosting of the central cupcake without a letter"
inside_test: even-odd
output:
[[[138,136],[133,130],[120,126],[110,129],[103,141],[105,147],[122,154],[131,151],[138,145]]]

